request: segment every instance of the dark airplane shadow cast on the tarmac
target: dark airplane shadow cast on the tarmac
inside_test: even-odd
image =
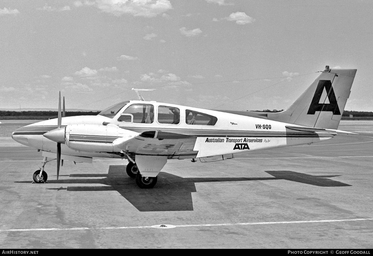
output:
[[[257,178],[182,178],[167,172],[161,172],[157,185],[153,189],[140,189],[133,178],[128,177],[123,165],[110,165],[107,174],[70,174],[60,175],[79,179],[48,180],[50,184],[103,184],[105,186],[68,186],[66,188],[48,188],[67,191],[117,191],[141,212],[154,211],[192,211],[192,192],[196,192],[197,182],[260,181],[285,179],[320,187],[351,186],[332,177],[340,175],[309,175],[293,171],[266,171],[273,177]],[[87,177],[87,179],[80,179]],[[97,179],[94,179],[97,177]],[[21,181],[25,182],[25,181]],[[29,181],[27,181],[29,182]]]

